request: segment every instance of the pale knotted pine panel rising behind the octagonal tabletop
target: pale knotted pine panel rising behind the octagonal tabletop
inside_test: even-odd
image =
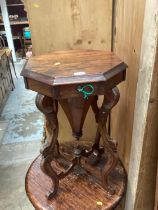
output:
[[[34,54],[111,49],[112,0],[25,0]]]

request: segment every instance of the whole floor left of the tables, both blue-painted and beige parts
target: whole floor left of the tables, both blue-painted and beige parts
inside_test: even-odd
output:
[[[20,77],[25,60],[17,62],[15,90],[0,117],[0,210],[32,210],[25,194],[25,174],[39,154],[43,116],[34,105],[35,93]]]

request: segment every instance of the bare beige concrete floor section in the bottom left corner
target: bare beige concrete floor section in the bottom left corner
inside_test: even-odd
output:
[[[25,193],[25,174],[39,143],[4,145],[0,150],[0,209],[33,210]]]

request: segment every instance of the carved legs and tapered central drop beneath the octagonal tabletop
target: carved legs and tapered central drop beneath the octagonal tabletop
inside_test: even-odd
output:
[[[86,99],[83,97],[66,98],[54,100],[48,96],[38,94],[36,98],[36,105],[46,117],[46,126],[48,129],[47,141],[41,151],[41,169],[52,180],[52,189],[48,195],[48,199],[54,197],[59,188],[59,180],[65,178],[71,173],[76,165],[81,165],[82,158],[88,158],[90,166],[96,167],[100,162],[102,156],[106,156],[107,161],[104,162],[101,168],[100,184],[111,195],[115,194],[115,188],[109,182],[109,174],[117,165],[118,156],[116,143],[109,137],[106,129],[106,121],[109,112],[116,105],[119,100],[119,91],[115,87],[112,90],[105,92],[104,100],[101,108],[97,106],[97,96],[90,96]],[[89,149],[83,148],[81,145],[76,145],[73,148],[72,159],[69,159],[69,165],[66,170],[57,173],[52,167],[51,163],[55,159],[63,159],[67,161],[67,157],[60,150],[58,142],[58,103],[63,107],[67,118],[72,127],[73,135],[79,139],[82,135],[82,127],[90,106],[95,113],[98,128],[93,145]],[[102,137],[103,144],[100,145],[100,138]],[[70,151],[71,152],[71,151]],[[84,166],[83,166],[84,167]],[[87,170],[89,167],[86,167]],[[94,171],[97,171],[97,167]],[[48,189],[49,190],[49,189]]]

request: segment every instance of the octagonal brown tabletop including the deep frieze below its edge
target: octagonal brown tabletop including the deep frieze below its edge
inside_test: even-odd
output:
[[[92,95],[103,95],[125,79],[126,67],[110,52],[69,50],[31,58],[21,75],[25,78],[26,88],[63,99],[80,97],[81,93],[76,89],[78,84],[85,83],[94,85]]]

